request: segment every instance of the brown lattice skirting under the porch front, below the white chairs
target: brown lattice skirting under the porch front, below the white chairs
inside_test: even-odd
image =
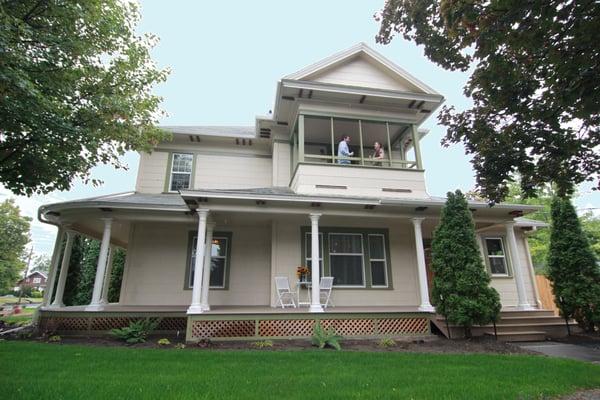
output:
[[[344,337],[381,337],[428,334],[429,319],[405,318],[323,318],[324,328],[333,327]],[[190,317],[187,340],[260,339],[310,337],[317,319],[202,320]]]

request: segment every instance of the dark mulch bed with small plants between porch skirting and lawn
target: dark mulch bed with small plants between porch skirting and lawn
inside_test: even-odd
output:
[[[110,337],[61,337],[57,345],[83,345],[101,347],[132,347],[132,348],[161,348],[174,349],[178,343],[183,343],[183,338],[167,337],[170,345],[157,344],[160,337],[151,337],[145,343],[128,345]],[[28,338],[21,340],[48,341],[48,338]],[[492,353],[492,354],[538,354],[524,350],[511,343],[497,342],[489,337],[476,337],[469,340],[447,340],[437,336],[419,338],[401,337],[395,339],[394,346],[381,346],[379,340],[352,340],[345,339],[341,342],[343,351],[369,351],[369,352],[410,352],[410,353]],[[260,347],[261,343],[270,342],[272,346]],[[202,341],[186,345],[186,350],[255,350],[255,351],[281,351],[281,350],[307,350],[314,349],[310,340],[272,340],[272,341]]]

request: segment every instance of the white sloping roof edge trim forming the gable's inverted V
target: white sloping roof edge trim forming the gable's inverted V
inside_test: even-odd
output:
[[[382,54],[373,50],[365,43],[358,43],[349,49],[335,53],[321,61],[311,64],[301,70],[285,76],[284,80],[315,80],[315,78],[331,71],[332,69],[341,68],[344,64],[351,62],[357,58],[363,58],[369,61],[374,68],[379,68],[382,73],[389,75],[390,78],[406,82],[407,86],[417,92],[426,94],[439,95],[434,89],[408,73],[405,69],[396,65]]]

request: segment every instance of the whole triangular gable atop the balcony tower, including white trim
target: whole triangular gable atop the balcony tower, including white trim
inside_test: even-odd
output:
[[[364,43],[327,57],[284,79],[438,94]]]

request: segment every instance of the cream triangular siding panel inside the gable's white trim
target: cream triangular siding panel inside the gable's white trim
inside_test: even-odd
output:
[[[401,82],[400,79],[392,77],[391,74],[384,72],[382,68],[375,66],[362,57],[335,66],[317,76],[307,77],[306,80],[338,85],[421,92],[409,82]]]

